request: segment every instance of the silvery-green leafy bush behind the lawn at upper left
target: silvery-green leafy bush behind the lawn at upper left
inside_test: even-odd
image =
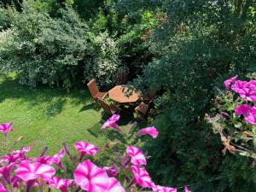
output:
[[[113,39],[108,33],[95,38],[96,34],[69,6],[59,9],[59,15],[52,18],[29,2],[23,3],[21,13],[13,10],[13,27],[3,32],[0,44],[1,69],[17,72],[21,84],[32,86],[70,88],[90,78],[106,86],[113,84],[115,79],[109,72],[119,71]]]

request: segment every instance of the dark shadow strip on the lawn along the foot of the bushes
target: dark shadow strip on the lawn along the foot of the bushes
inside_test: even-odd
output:
[[[70,90],[49,88],[44,85],[37,88],[21,85],[18,81],[7,74],[0,73],[0,103],[7,99],[19,99],[26,103],[28,108],[45,105],[45,115],[49,118],[61,113],[65,103],[73,105],[90,102],[90,93],[87,90]]]

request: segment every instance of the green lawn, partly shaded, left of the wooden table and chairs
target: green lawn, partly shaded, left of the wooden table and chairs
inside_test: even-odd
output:
[[[9,148],[17,137],[24,137],[15,147],[30,145],[32,157],[44,146],[55,154],[62,143],[84,140],[102,147],[108,135],[100,130],[102,110],[91,103],[90,93],[84,90],[30,88],[18,84],[13,76],[0,75],[0,123],[14,122],[9,132]],[[3,142],[2,134],[0,142]],[[2,145],[3,146],[3,145]],[[1,149],[0,149],[1,151]],[[3,153],[3,150],[2,150]]]

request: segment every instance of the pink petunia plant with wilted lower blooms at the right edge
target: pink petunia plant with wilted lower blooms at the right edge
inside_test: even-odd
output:
[[[224,81],[226,91],[218,90],[213,116],[206,115],[213,131],[224,143],[223,154],[256,159],[256,80],[238,80],[237,75]]]

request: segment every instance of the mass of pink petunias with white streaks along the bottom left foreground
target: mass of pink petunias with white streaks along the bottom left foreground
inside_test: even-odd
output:
[[[117,155],[113,166],[97,166],[94,160],[87,159],[88,156],[98,153],[100,149],[84,141],[73,144],[79,155],[71,154],[67,144],[64,143],[61,151],[53,156],[45,155],[47,148],[44,148],[38,158],[29,158],[26,152],[30,150],[30,147],[24,147],[0,157],[0,192],[28,192],[37,188],[42,191],[60,189],[61,192],[125,192],[143,191],[144,189],[155,192],[177,192],[177,189],[155,184],[146,170],[147,157],[142,149],[130,145],[137,143],[135,139],[137,136],[157,137],[159,134],[157,129],[147,127],[138,131],[134,136],[131,131],[135,127],[133,124],[131,130],[125,134],[117,124],[119,118],[119,115],[114,114],[102,125],[102,130],[113,128],[113,131],[118,131],[127,140],[123,143],[125,153],[115,152],[113,154],[113,156]],[[0,131],[3,131],[4,137],[7,137],[9,131],[13,131],[12,125],[13,123],[0,125]],[[134,139],[131,139],[132,137]],[[65,154],[76,167],[73,177],[68,177],[67,167],[62,164],[61,159]],[[55,175],[57,169],[61,170],[66,178],[57,177]],[[187,187],[184,190],[189,192]]]

